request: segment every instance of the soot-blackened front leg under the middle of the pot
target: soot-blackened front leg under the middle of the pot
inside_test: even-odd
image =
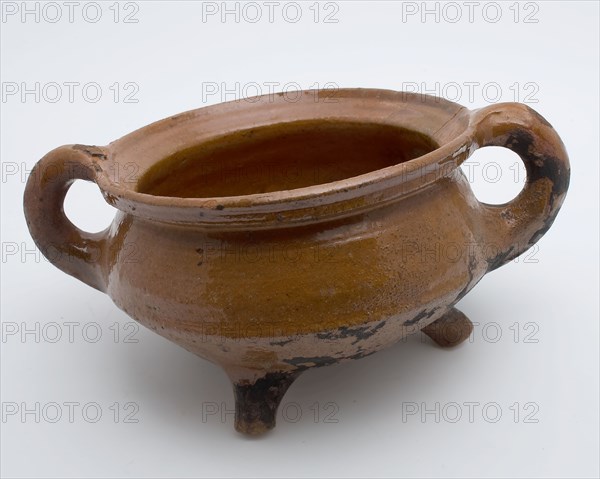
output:
[[[235,429],[253,436],[275,427],[277,408],[300,371],[273,372],[258,378],[233,381]]]

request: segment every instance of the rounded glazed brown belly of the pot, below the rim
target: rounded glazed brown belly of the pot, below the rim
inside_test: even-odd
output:
[[[113,247],[135,255],[118,256],[109,294],[225,367],[356,359],[435,321],[483,276],[465,208],[431,191],[327,224],[220,233],[124,217]]]

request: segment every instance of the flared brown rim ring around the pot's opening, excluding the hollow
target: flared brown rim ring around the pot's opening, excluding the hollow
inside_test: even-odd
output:
[[[366,123],[377,122],[374,118],[379,118],[382,123],[397,124],[423,133],[439,146],[417,158],[358,176],[292,190],[241,196],[213,198],[156,196],[136,191],[135,188],[111,179],[109,174],[99,174],[96,181],[105,200],[125,213],[176,224],[262,228],[315,223],[356,214],[414,194],[440,178],[452,174],[476,146],[470,128],[472,112],[462,105],[440,97],[365,88],[301,90],[298,94],[301,95],[298,103],[313,102],[321,108],[326,103],[315,101],[313,97],[343,99],[349,102],[349,106],[357,108],[355,114],[346,120]],[[109,168],[110,165],[114,166],[117,157],[122,161],[123,158],[130,156],[131,153],[127,152],[129,148],[148,142],[152,135],[160,135],[167,131],[172,134],[178,127],[190,127],[194,121],[210,121],[212,117],[240,113],[252,114],[260,112],[261,108],[263,112],[269,113],[269,107],[280,109],[280,113],[287,115],[288,120],[275,120],[263,126],[298,121],[294,119],[295,104],[286,102],[283,95],[283,93],[266,94],[223,102],[151,123],[103,147],[108,161],[102,165],[102,170],[107,171],[107,166]],[[308,96],[311,98],[305,100]],[[394,107],[397,107],[397,111],[393,110]],[[387,116],[382,116],[385,113]],[[406,118],[403,118],[404,113],[408,115]],[[397,116],[398,121],[405,123],[403,125],[394,123],[396,120],[392,118],[393,116]],[[318,118],[320,117],[315,117]],[[334,115],[332,119],[341,118]],[[248,125],[247,128],[251,126]],[[427,131],[428,129],[430,131]],[[240,128],[237,128],[231,132],[239,130]],[[230,131],[220,134],[224,133]],[[156,161],[153,162],[155,163]]]

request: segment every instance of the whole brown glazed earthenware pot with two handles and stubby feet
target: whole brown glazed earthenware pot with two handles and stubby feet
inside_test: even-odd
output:
[[[479,202],[458,168],[489,145],[525,163],[507,204]],[[65,216],[76,179],[118,209],[106,230]],[[36,164],[24,204],[58,268],[222,366],[236,429],[259,434],[306,369],[419,330],[442,346],[464,340],[472,325],[455,303],[541,238],[568,184],[563,143],[525,105],[470,111],[342,89],[237,100],[108,146],[61,146]]]

